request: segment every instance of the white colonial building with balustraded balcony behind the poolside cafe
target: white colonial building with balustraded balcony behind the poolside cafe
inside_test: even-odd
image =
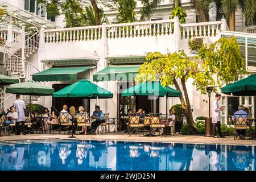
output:
[[[237,32],[228,31],[225,19],[197,23],[196,11],[192,9],[188,0],[182,1],[188,14],[185,24],[180,24],[177,18],[170,19],[172,5],[166,0],[148,22],[63,28],[65,26],[63,15],[52,19],[55,22],[47,20],[47,13],[38,11],[40,7],[37,6],[36,1],[0,2],[5,2],[9,12],[7,18],[9,22],[2,23],[0,29],[0,38],[5,42],[5,45],[0,46],[1,74],[19,77],[22,81],[30,79],[41,81],[55,91],[86,78],[114,93],[112,99],[102,100],[50,96],[35,98],[34,103],[48,108],[54,105],[60,110],[64,104],[76,107],[84,105],[85,110],[92,113],[97,102],[110,117],[118,117],[126,113],[131,102],[122,98],[118,91],[123,89],[122,87],[131,86],[132,81],[124,83],[116,76],[110,77],[110,81],[99,81],[97,76],[100,73],[110,75],[111,70],[115,73],[134,73],[136,68],[143,64],[147,52],[168,53],[184,49],[189,56],[193,56],[188,47],[189,36],[192,39],[203,39],[206,44],[213,43],[222,36],[237,36],[247,70],[251,73],[256,71],[256,34],[245,33],[246,26],[240,11],[236,13]],[[89,5],[89,1],[80,2],[82,5]],[[141,5],[138,4],[137,12],[140,7]],[[110,20],[113,19],[113,12],[106,11],[106,13]],[[20,23],[20,27],[14,26],[14,19]],[[38,30],[35,28],[35,33],[28,35],[24,31],[25,24],[33,24]],[[196,90],[192,80],[187,81],[187,88],[193,117],[206,116],[208,104],[203,100],[207,100],[208,97]],[[2,87],[2,100],[10,96],[4,90],[5,86]],[[132,103],[134,110],[143,107],[150,113],[166,112],[166,98],[151,100],[148,97],[136,96],[134,100]],[[2,106],[7,109],[13,101],[14,97],[10,97]],[[179,98],[168,100],[168,107],[175,104],[179,104]],[[226,105],[226,109],[222,112],[222,122],[228,121],[228,116],[233,115],[239,104],[249,106],[254,115],[253,97],[225,96],[222,98],[222,104]]]

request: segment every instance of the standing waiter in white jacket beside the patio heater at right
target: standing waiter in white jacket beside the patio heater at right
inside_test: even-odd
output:
[[[213,126],[212,129],[213,129],[214,138],[225,138],[221,133],[220,113],[224,108],[218,105],[218,101],[220,101],[220,99],[221,99],[221,94],[217,93],[215,95],[215,100],[213,101],[213,104],[212,104],[212,126]],[[218,134],[220,135],[220,137],[216,133],[216,127],[218,128]]]

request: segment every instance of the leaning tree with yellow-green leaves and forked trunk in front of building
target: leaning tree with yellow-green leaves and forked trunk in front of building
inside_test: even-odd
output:
[[[168,53],[149,52],[146,62],[138,69],[135,81],[160,81],[163,86],[174,85],[176,90],[183,92],[181,105],[191,133],[197,128],[193,121],[186,81],[193,79],[193,85],[202,94],[206,94],[204,86],[218,84],[222,81],[233,81],[238,74],[245,73],[245,61],[240,53],[234,37],[221,38],[208,47],[202,47],[194,59],[189,59],[184,51]],[[214,80],[213,75],[216,75]],[[181,86],[179,85],[181,82]]]

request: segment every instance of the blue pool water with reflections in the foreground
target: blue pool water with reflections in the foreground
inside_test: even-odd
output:
[[[0,170],[255,170],[255,146],[39,140],[0,143]]]

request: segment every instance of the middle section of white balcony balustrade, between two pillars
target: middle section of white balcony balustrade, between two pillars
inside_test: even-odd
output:
[[[134,38],[145,36],[172,35],[174,19],[155,20],[149,22],[107,24],[107,38]]]

